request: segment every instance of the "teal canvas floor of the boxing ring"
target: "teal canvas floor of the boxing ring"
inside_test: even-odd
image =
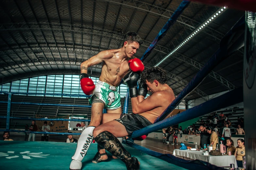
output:
[[[24,142],[0,141],[1,170],[68,170],[71,157],[75,153],[76,143],[61,142]],[[136,149],[123,145],[132,156],[141,163],[140,170],[175,169],[184,170],[179,166],[167,163],[158,158],[149,156]],[[83,170],[119,170],[126,169],[125,164],[112,159],[110,153],[106,162],[92,163],[97,152],[97,145],[92,144],[83,159]]]

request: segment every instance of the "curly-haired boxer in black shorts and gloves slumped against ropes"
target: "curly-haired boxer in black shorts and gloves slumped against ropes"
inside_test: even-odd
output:
[[[117,137],[130,136],[132,132],[153,124],[175,99],[173,90],[166,84],[167,78],[162,69],[153,67],[146,70],[141,78],[139,90],[136,87],[138,78],[132,71],[123,78],[129,88],[133,113],[120,119],[119,114],[104,114],[103,122],[107,123],[101,124],[93,131],[94,140],[98,145],[122,160],[128,170],[138,170],[139,162],[137,158],[131,157]],[[152,95],[145,99],[148,90]]]

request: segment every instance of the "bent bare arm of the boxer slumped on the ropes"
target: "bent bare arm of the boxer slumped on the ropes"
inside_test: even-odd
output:
[[[155,92],[139,103],[138,97],[131,98],[131,107],[134,114],[144,113],[160,107],[163,99],[162,92]]]

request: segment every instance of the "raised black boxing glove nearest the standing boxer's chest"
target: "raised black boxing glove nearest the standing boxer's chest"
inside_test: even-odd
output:
[[[124,83],[129,88],[130,98],[137,97],[138,95],[137,81],[139,80],[139,78],[140,78],[140,75],[138,73],[134,73],[133,71],[129,71],[123,77]]]

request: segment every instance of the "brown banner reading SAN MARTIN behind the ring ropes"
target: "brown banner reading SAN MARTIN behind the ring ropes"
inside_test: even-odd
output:
[[[68,116],[45,116],[45,115],[36,115],[37,119],[45,118],[48,119],[69,119]],[[41,132],[42,127],[44,126],[44,121],[47,120],[37,120],[36,125],[38,127],[38,132]],[[68,132],[68,121],[59,121],[59,120],[51,120],[47,121],[47,125],[50,126],[50,132],[61,132],[65,133]]]

